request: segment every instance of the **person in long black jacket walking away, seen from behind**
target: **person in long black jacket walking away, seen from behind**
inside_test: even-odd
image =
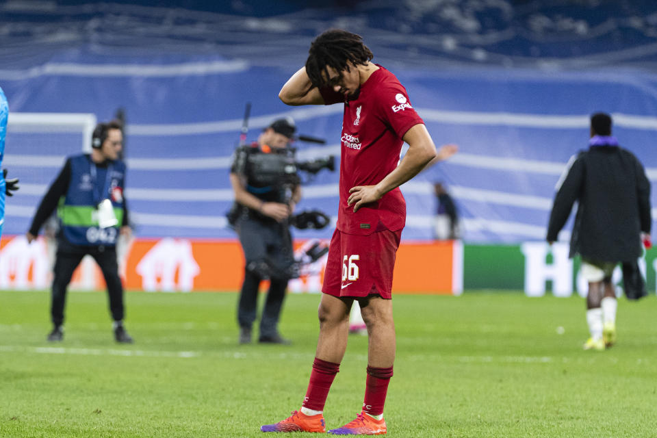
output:
[[[585,350],[604,350],[615,342],[617,302],[611,274],[617,263],[641,257],[642,238],[649,240],[652,225],[645,170],[611,136],[611,125],[608,114],[591,116],[589,149],[571,157],[558,181],[548,225],[552,244],[578,201],[570,257],[582,257],[582,274],[589,282],[591,337]]]

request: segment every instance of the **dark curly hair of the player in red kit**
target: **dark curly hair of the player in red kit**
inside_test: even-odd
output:
[[[318,88],[326,85],[329,77],[326,67],[338,72],[349,71],[347,61],[365,65],[374,57],[360,35],[342,29],[324,31],[310,44],[308,53],[306,73],[313,86]]]

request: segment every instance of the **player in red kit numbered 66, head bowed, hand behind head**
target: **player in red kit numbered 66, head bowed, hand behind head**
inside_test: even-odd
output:
[[[356,34],[329,30],[312,42],[304,68],[285,83],[287,105],[344,102],[337,227],[329,246],[319,307],[320,335],[307,393],[300,411],[262,426],[263,432],[325,432],[324,403],[344,357],[349,311],[354,300],[368,327],[368,368],[361,413],[336,435],[387,432],[383,404],[395,359],[392,274],[406,222],[399,186],[439,153],[406,89],[388,70],[373,64],[372,52]],[[399,161],[402,144],[409,150]]]

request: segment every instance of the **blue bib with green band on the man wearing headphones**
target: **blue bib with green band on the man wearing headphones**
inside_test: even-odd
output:
[[[116,244],[123,223],[125,164],[116,160],[92,171],[90,157],[77,155],[70,158],[70,170],[68,190],[57,207],[64,237],[75,245]],[[118,224],[101,229],[97,205],[105,199],[112,203]]]

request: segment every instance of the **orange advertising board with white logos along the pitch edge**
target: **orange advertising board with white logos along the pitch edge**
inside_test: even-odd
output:
[[[310,241],[295,242],[303,253]],[[51,281],[53,242],[40,237],[28,245],[22,235],[3,236],[0,250],[0,287],[47,289]],[[455,267],[461,263],[454,248],[459,243],[402,242],[398,249],[392,288],[396,294],[452,294]],[[235,292],[244,279],[244,255],[237,240],[135,239],[119,253],[125,287],[162,292]],[[320,292],[326,255],[305,265],[289,292]],[[262,285],[266,287],[266,285]],[[72,288],[104,289],[103,276],[92,259],[83,261],[73,275]]]

